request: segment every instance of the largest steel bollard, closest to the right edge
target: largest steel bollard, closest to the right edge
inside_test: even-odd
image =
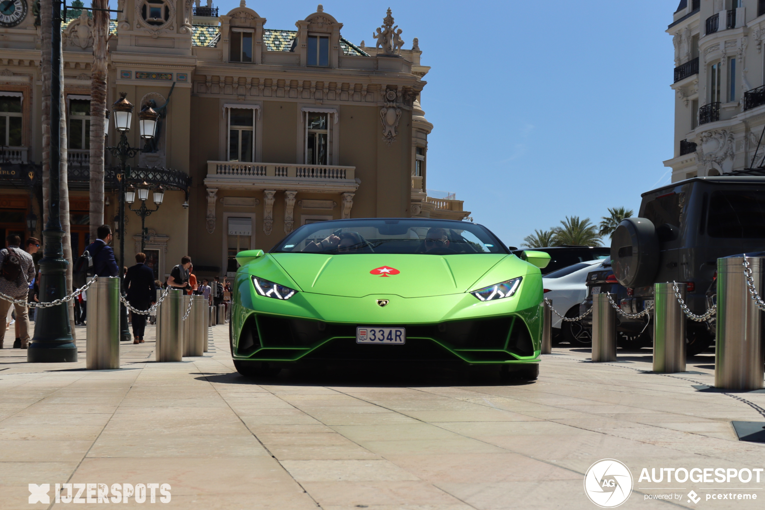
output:
[[[760,296],[762,258],[747,258]],[[731,390],[763,388],[760,310],[750,297],[744,258],[718,258],[718,311],[715,347],[715,386]]]

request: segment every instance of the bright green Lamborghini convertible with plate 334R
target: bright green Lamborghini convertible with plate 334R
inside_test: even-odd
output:
[[[307,362],[460,362],[539,374],[543,252],[516,257],[461,221],[337,219],[269,253],[239,252],[231,353],[239,373]]]

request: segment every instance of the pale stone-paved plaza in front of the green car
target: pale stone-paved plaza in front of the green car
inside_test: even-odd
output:
[[[643,467],[765,467],[765,445],[738,441],[730,424],[765,417],[693,387],[711,384],[711,354],[677,375],[646,373],[647,349],[597,365],[588,349],[555,349],[533,383],[340,367],[253,382],[233,369],[228,327],[211,330],[205,356],[156,363],[151,326],[147,343],[122,344],[119,371],[86,371],[84,340],[77,363],[29,365],[25,351],[0,351],[0,508],[67,507],[54,502],[55,483],[171,486],[167,504],[158,492],[154,505],[119,508],[597,508],[583,479],[603,458],[633,474],[620,508],[761,508],[765,499],[765,476],[638,481]],[[765,407],[763,393],[735,396]],[[50,483],[50,505],[28,503],[29,483]],[[760,501],[705,500],[742,488]],[[682,499],[646,500],[670,493]]]

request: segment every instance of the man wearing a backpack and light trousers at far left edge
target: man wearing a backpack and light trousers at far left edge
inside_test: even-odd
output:
[[[0,292],[26,301],[29,292],[29,282],[34,278],[34,261],[32,255],[24,252],[18,245],[21,238],[15,234],[5,238],[8,248],[0,250]],[[21,349],[26,349],[29,344],[29,315],[26,305],[13,304],[16,310],[16,323],[18,323],[18,335],[21,339]],[[5,323],[8,320],[8,310],[11,302],[0,299],[0,349],[5,339]]]

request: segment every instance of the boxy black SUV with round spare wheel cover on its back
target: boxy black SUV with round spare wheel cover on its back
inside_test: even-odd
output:
[[[643,193],[638,217],[611,238],[614,275],[632,294],[630,311],[653,303],[653,284],[688,284],[688,307],[707,310],[717,259],[765,250],[765,177],[693,177]],[[650,329],[650,328],[649,328]],[[688,354],[715,338],[714,322],[687,321]]]

